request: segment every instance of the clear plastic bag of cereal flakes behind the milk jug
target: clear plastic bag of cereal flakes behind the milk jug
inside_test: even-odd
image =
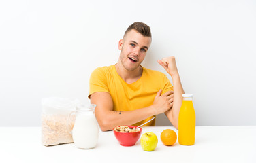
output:
[[[42,98],[42,144],[45,146],[73,143],[71,130],[75,115],[69,118],[71,111],[76,111],[80,101],[68,98]],[[68,120],[69,119],[69,120]]]

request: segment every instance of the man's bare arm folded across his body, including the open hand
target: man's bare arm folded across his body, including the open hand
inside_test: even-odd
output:
[[[96,104],[95,117],[102,131],[112,130],[115,126],[135,124],[146,118],[164,113],[172,107],[172,91],[161,95],[157,92],[153,105],[136,109],[134,111],[113,111],[112,97],[108,92],[95,92],[91,94],[91,103]]]

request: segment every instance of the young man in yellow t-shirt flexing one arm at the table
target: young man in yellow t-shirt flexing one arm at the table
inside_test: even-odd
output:
[[[174,56],[157,60],[172,77],[146,69],[140,64],[150,47],[150,27],[134,22],[118,43],[118,63],[99,67],[90,78],[89,98],[96,104],[95,116],[101,130],[114,126],[138,126],[157,114],[165,113],[178,129],[178,113],[184,90]],[[155,119],[144,126],[155,126]]]

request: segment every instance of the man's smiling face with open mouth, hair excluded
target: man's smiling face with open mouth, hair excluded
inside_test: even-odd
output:
[[[146,56],[151,37],[145,37],[132,29],[119,41],[120,61],[128,71],[137,69]]]

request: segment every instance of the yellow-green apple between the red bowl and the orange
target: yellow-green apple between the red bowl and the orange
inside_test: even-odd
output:
[[[153,132],[146,132],[140,138],[140,145],[142,145],[144,151],[153,151],[157,147],[157,143],[157,135]]]

